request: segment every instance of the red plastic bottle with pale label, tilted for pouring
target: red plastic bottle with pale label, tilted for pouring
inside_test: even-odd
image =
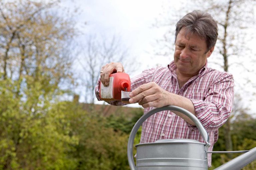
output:
[[[131,91],[131,80],[126,73],[113,73],[109,76],[109,85],[100,83],[100,98],[104,101],[121,100],[121,91]]]

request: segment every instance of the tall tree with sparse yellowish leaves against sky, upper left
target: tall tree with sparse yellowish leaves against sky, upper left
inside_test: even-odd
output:
[[[52,10],[56,6],[57,1],[1,2],[2,78],[19,82],[17,95],[20,88],[32,88],[36,81],[45,86],[47,93],[47,88],[57,87],[71,77],[74,23],[59,17]],[[34,82],[29,84],[30,81]]]

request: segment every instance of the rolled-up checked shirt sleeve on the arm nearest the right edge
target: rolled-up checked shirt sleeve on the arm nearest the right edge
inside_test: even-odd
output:
[[[196,117],[207,131],[215,131],[229,118],[234,98],[234,80],[228,73],[218,75],[211,84],[204,100],[190,99]],[[191,125],[188,124],[189,127]]]

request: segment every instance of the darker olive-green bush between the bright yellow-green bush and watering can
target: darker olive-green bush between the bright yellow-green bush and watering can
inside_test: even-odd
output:
[[[128,170],[128,134],[107,127],[108,119],[95,113],[85,113],[78,103],[63,102],[54,110],[64,113],[71,127],[70,135],[78,137],[71,155],[78,161],[77,169]],[[117,118],[119,120],[119,118]]]

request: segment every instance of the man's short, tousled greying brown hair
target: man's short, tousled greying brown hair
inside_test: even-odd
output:
[[[185,28],[188,33],[195,34],[206,41],[207,51],[215,46],[218,37],[218,25],[207,12],[196,10],[186,14],[176,24],[175,42],[178,33]]]

